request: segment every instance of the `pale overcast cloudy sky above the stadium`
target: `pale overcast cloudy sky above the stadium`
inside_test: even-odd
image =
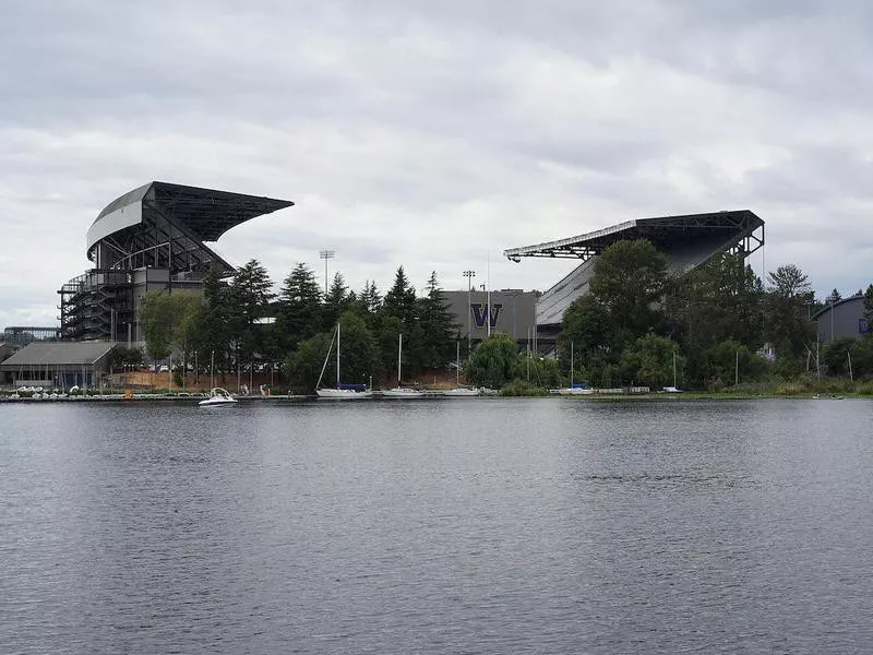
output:
[[[502,257],[750,209],[758,275],[873,283],[865,0],[27,0],[0,39],[0,327],[57,324],[85,234],[162,180],[291,200],[214,249],[385,290],[548,289]]]

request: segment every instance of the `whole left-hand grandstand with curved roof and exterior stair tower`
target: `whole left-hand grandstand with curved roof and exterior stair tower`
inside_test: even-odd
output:
[[[121,195],[88,229],[86,254],[95,267],[58,290],[60,338],[142,342],[141,296],[163,289],[201,293],[208,271],[230,275],[234,266],[205,242],[292,204],[168,182]]]

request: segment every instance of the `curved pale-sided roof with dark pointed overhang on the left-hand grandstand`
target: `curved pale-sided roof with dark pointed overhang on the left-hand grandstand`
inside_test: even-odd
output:
[[[234,267],[204,241],[246,221],[291,206],[288,200],[148,182],[110,202],[87,234],[87,257],[97,269],[168,269],[205,273]]]

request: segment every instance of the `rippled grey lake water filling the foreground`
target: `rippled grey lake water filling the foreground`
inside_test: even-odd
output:
[[[873,402],[0,406],[0,653],[861,653]]]

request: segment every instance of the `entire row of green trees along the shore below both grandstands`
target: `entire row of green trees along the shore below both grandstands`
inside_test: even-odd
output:
[[[176,352],[201,365],[212,358],[225,373],[280,367],[295,389],[311,391],[342,322],[344,382],[390,380],[399,334],[410,378],[454,359],[458,325],[435,273],[420,296],[403,266],[384,296],[370,281],[350,290],[339,273],[324,293],[301,263],[273,289],[252,260],[228,281],[208,275],[202,296],[147,294],[140,318],[148,356],[162,360]],[[873,378],[873,338],[817,343],[812,317],[839,299],[835,289],[817,300],[794,264],[767,273],[765,283],[743,258],[722,253],[671,274],[649,241],[619,241],[598,257],[588,293],[565,311],[557,357],[519,353],[497,333],[476,347],[464,372],[471,384],[519,392],[571,381],[717,391],[804,376]],[[274,321],[264,324],[266,318]],[[873,285],[864,294],[864,318],[873,325]]]

